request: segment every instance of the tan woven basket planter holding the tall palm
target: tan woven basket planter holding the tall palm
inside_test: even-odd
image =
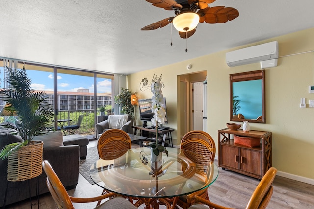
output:
[[[42,141],[31,141],[28,146],[22,147],[8,157],[8,176],[11,182],[25,181],[39,176],[43,161]]]

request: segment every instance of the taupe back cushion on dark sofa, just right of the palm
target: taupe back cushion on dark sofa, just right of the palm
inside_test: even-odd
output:
[[[63,136],[61,131],[47,131],[47,134],[35,136],[33,140],[43,141],[44,147],[63,146]]]

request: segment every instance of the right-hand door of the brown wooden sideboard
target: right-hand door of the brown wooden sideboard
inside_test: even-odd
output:
[[[240,170],[261,176],[262,174],[261,152],[240,149]]]

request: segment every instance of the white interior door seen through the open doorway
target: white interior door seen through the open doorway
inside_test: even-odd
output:
[[[193,130],[203,130],[203,82],[193,83]]]

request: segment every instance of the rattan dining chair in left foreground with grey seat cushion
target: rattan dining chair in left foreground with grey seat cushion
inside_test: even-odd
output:
[[[97,209],[137,209],[133,204],[123,197],[113,197],[116,194],[110,192],[105,195],[79,198],[71,197],[63,186],[57,174],[54,172],[52,166],[47,160],[42,162],[43,169],[47,175],[46,184],[50,191],[52,198],[54,199],[58,209],[74,209],[72,203],[90,203],[110,198],[103,204],[99,205]]]

